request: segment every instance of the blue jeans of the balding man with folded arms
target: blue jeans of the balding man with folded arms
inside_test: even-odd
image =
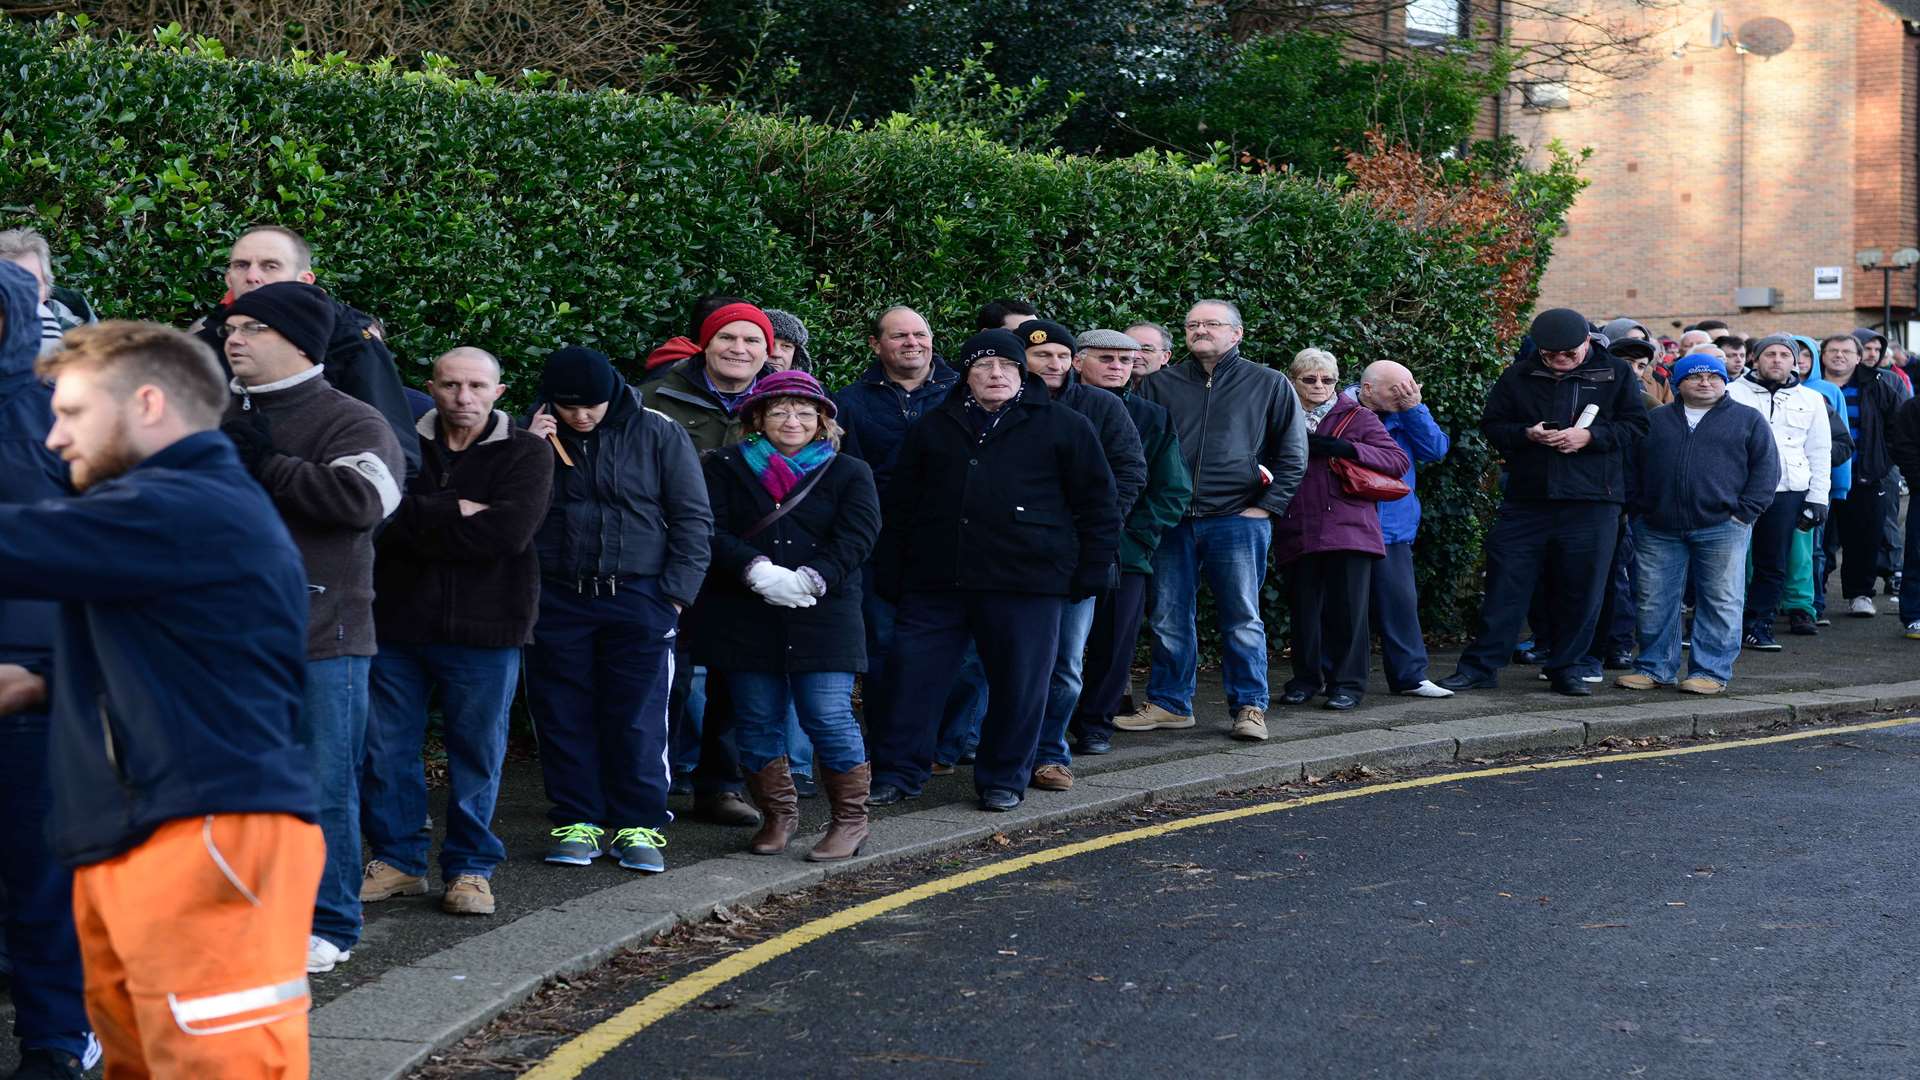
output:
[[[520,676],[520,650],[472,646],[380,646],[372,657],[367,759],[361,767],[361,824],[374,857],[426,874],[426,698],[440,686],[447,744],[447,840],[440,876],[493,876],[507,847],[493,836],[499,769],[507,759],[507,709]]]

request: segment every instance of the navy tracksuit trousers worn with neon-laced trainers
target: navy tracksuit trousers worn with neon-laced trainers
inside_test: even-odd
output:
[[[545,580],[526,646],[526,703],[540,738],[547,817],[618,828],[672,821],[666,701],[678,615],[659,578],[578,590]]]

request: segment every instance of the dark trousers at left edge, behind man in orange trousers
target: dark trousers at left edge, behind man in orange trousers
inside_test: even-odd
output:
[[[73,930],[73,872],[46,844],[54,790],[46,771],[46,713],[0,717],[0,880],[13,963],[13,1034],[27,1049],[86,1055],[92,1022]]]

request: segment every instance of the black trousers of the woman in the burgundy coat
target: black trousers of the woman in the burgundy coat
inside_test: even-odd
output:
[[[1365,552],[1319,552],[1286,565],[1294,650],[1294,676],[1286,680],[1286,690],[1356,698],[1367,692],[1367,659],[1373,655],[1367,592],[1377,561]]]

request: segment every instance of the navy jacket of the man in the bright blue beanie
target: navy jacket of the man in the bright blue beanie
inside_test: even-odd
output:
[[[1774,429],[1734,398],[1720,398],[1692,430],[1680,402],[1653,409],[1634,465],[1634,511],[1663,532],[1709,528],[1728,517],[1753,525],[1780,484]]]

